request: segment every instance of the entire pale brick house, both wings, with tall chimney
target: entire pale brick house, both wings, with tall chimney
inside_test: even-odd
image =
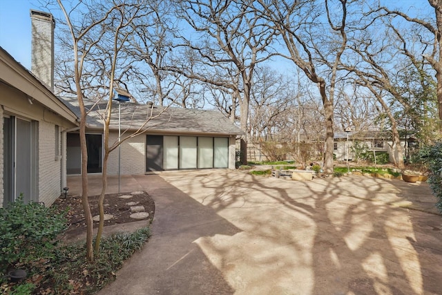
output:
[[[31,71],[0,47],[0,207],[20,193],[27,202],[49,206],[66,187],[66,175],[81,173],[77,101],[53,94],[55,21],[49,13],[36,10],[31,10],[30,17]],[[102,173],[99,107],[105,103],[88,115],[90,173]],[[148,111],[161,110],[151,104],[121,104],[121,124],[114,110],[110,141],[118,139],[119,129],[127,134],[139,128]],[[236,135],[241,134],[219,112],[168,108],[146,125],[144,133],[122,144],[120,157],[117,151],[111,153],[108,173],[117,174],[119,169],[122,174],[235,169]]]

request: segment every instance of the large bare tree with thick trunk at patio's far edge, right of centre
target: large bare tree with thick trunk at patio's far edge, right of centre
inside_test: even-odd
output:
[[[262,15],[278,31],[294,62],[318,86],[325,111],[324,171],[333,172],[334,97],[338,66],[347,45],[347,0],[257,1]],[[325,17],[324,17],[325,15]]]

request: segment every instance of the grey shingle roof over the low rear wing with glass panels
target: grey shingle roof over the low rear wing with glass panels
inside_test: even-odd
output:
[[[77,116],[80,116],[79,104],[76,98],[62,97],[62,101]],[[107,101],[93,105],[85,99],[86,109],[92,111],[88,114],[86,124],[89,129],[102,129],[102,115]],[[118,130],[118,103],[113,102],[111,116],[111,130]],[[121,104],[121,129],[137,130],[149,118],[143,127],[155,133],[208,133],[211,135],[242,135],[237,126],[224,117],[219,111],[206,111],[191,108],[173,108],[155,106],[151,108],[146,104],[124,102]]]

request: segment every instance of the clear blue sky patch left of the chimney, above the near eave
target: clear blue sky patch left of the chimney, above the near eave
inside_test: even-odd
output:
[[[0,0],[0,46],[30,69],[30,9],[35,0]]]

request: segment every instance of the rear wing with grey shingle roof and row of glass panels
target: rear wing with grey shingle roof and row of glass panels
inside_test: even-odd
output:
[[[79,114],[77,99],[64,98],[66,104]],[[102,173],[103,122],[102,110],[107,102],[94,106],[85,101],[90,109],[87,119],[88,172]],[[121,111],[119,112],[119,107]],[[162,114],[156,117],[160,112]],[[119,113],[120,120],[119,120]],[[154,117],[147,124],[149,117]],[[121,122],[120,125],[118,122]],[[110,144],[131,135],[142,127],[142,133],[122,143],[118,153],[111,153],[108,174],[144,174],[153,171],[182,169],[235,169],[236,135],[242,131],[218,111],[153,106],[113,102],[110,125]],[[79,134],[68,133],[67,173],[81,173]]]

